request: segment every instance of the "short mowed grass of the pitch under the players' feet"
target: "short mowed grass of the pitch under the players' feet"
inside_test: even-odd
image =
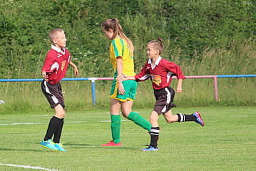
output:
[[[159,118],[159,151],[143,152],[149,135],[122,118],[122,146],[102,147],[111,140],[108,109],[67,113],[61,140],[67,152],[42,148],[52,113],[0,115],[0,170],[256,170],[256,107],[175,108],[200,110],[206,126],[166,123]],[[151,109],[138,111],[148,119]],[[10,124],[15,123],[15,124]]]

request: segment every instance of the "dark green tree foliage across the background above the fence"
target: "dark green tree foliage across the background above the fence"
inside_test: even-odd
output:
[[[229,50],[233,41],[255,41],[256,34],[252,0],[2,0],[0,6],[1,78],[40,77],[52,28],[66,32],[80,77],[110,77],[110,41],[100,28],[108,18],[118,18],[134,42],[136,72],[151,39],[164,39],[165,58],[189,62],[202,60],[208,48]]]

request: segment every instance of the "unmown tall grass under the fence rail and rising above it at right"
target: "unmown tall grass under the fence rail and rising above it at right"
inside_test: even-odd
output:
[[[197,60],[182,58],[179,49],[165,52],[163,58],[179,64],[184,75],[246,75],[256,73],[255,40],[248,39],[242,45],[236,42],[230,44],[229,50],[208,48],[203,52],[203,58]],[[196,56],[196,54],[195,54]],[[146,62],[146,61],[145,61]],[[137,69],[140,70],[140,69]],[[137,71],[138,72],[138,71]],[[111,77],[111,73],[109,73]],[[67,77],[73,77],[72,69]],[[67,111],[90,110],[94,107],[109,106],[109,94],[112,81],[97,80],[96,102],[92,104],[90,81],[62,81],[61,86],[67,106]],[[179,106],[208,105],[255,105],[256,77],[219,78],[219,102],[214,100],[214,81],[210,78],[187,79],[183,83],[183,92],[176,94],[175,103]],[[176,89],[176,80],[171,86]],[[43,96],[39,82],[0,83],[0,113],[31,113],[36,111],[52,111]],[[154,95],[151,82],[147,80],[138,84],[135,107],[152,107]]]

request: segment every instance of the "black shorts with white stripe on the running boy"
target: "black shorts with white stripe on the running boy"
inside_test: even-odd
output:
[[[173,104],[173,98],[175,96],[173,88],[154,89],[154,96],[157,100],[156,104],[154,104],[154,111],[158,114],[167,113],[172,107],[176,107],[176,104]]]

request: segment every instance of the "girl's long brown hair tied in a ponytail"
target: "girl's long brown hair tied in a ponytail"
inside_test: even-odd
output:
[[[102,23],[101,27],[103,31],[104,30],[108,31],[109,29],[113,30],[113,37],[111,37],[111,39],[115,39],[115,37],[119,35],[121,39],[124,39],[125,41],[127,41],[127,44],[129,46],[129,51],[133,56],[133,52],[135,48],[132,44],[132,41],[124,34],[123,28],[121,27],[120,23],[116,18],[105,20]]]

